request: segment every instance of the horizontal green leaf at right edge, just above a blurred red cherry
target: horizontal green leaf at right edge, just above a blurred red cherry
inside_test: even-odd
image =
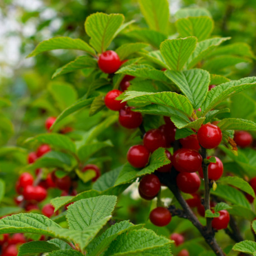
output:
[[[225,130],[245,130],[256,131],[256,124],[253,121],[240,118],[225,118],[222,119],[218,126],[222,131]]]

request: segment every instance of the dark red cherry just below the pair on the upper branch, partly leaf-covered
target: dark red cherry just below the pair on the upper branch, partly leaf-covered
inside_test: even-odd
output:
[[[135,129],[143,122],[141,113],[132,111],[133,108],[134,107],[124,107],[119,111],[119,124],[127,129]]]

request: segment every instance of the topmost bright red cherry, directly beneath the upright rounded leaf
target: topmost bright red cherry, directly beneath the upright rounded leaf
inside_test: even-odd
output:
[[[98,67],[107,74],[115,73],[121,66],[121,61],[115,51],[105,51],[99,55]]]

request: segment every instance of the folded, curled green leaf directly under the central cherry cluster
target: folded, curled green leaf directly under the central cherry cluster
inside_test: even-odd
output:
[[[129,183],[133,179],[144,176],[145,174],[153,173],[158,168],[169,163],[170,160],[166,157],[164,149],[159,148],[151,154],[149,165],[142,170],[135,169],[130,164],[125,164],[115,184]]]

